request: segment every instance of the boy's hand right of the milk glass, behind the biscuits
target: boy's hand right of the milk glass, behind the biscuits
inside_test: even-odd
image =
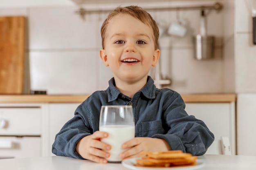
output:
[[[135,137],[123,144],[123,148],[130,148],[120,154],[122,159],[139,157],[142,151],[167,151],[171,150],[170,146],[164,139],[151,137]]]

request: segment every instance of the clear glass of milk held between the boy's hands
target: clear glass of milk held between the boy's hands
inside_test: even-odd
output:
[[[119,155],[124,152],[122,145],[135,137],[132,106],[101,106],[99,130],[108,132],[108,137],[101,139],[111,145],[108,162],[120,163],[122,159]]]

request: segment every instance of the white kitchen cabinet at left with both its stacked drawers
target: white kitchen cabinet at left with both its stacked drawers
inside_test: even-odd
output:
[[[42,156],[40,104],[0,104],[0,159]]]

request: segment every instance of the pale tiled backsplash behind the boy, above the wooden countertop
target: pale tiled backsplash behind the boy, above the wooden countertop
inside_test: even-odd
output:
[[[178,5],[194,5],[196,1],[177,1]],[[215,0],[200,1],[214,4]],[[199,3],[198,2],[198,3]],[[175,1],[161,5],[175,5]],[[113,9],[119,4],[112,4]],[[129,5],[129,4],[127,4]],[[140,5],[140,3],[136,3]],[[148,6],[157,7],[158,2]],[[105,90],[112,77],[110,69],[99,57],[100,27],[104,13],[86,15],[83,21],[75,13],[78,7],[29,7],[0,9],[0,15],[27,16],[27,54],[31,90],[46,90],[48,94],[90,94]],[[177,20],[177,11],[149,11],[165,29]],[[164,33],[159,38],[163,78],[171,79],[172,88],[179,93],[224,93],[223,10],[211,11],[207,17],[207,32],[216,37],[213,60],[193,58],[192,36],[199,33],[200,11],[180,11],[188,33],[184,38]],[[166,30],[165,30],[166,31]],[[152,77],[154,70],[150,71]],[[232,89],[231,89],[232,91]]]

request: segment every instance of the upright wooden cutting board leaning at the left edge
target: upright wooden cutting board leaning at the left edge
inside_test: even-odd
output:
[[[0,94],[22,94],[25,65],[24,16],[0,17]]]

